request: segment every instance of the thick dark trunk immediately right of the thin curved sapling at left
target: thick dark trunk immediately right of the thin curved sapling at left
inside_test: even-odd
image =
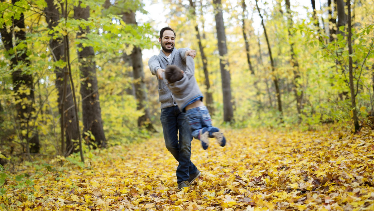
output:
[[[88,20],[90,15],[89,6],[82,8],[80,7],[80,3],[79,1],[79,6],[74,6],[74,18],[77,20]],[[77,40],[85,39],[82,38],[82,35],[86,33],[89,33],[89,27],[80,28],[80,31],[77,32]],[[83,47],[82,44],[79,43],[77,47],[82,49],[78,51],[77,54],[81,73],[80,94],[82,95],[83,137],[88,144],[90,144],[90,142],[95,142],[98,146],[106,147],[107,143],[102,127],[96,78],[95,52],[92,46]],[[95,140],[93,140],[90,135],[87,135],[88,131],[91,131]]]

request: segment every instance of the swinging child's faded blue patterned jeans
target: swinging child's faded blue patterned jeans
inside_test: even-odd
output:
[[[212,126],[212,118],[206,106],[199,106],[186,111],[186,118],[190,126],[193,138],[199,138],[200,129],[206,128],[209,132],[209,138],[214,138],[212,132],[217,132],[219,129]],[[205,131],[205,130],[204,130]]]

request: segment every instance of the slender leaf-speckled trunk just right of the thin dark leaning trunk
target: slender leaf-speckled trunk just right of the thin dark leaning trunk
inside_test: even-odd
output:
[[[312,3],[314,0],[312,0]],[[314,6],[315,7],[315,6]],[[299,115],[299,120],[301,120],[301,111],[303,109],[303,90],[299,79],[300,79],[300,70],[299,70],[299,63],[296,59],[296,54],[294,50],[294,42],[292,40],[293,34],[291,33],[291,28],[293,27],[292,25],[292,14],[291,14],[291,4],[289,3],[289,0],[286,0],[286,12],[287,12],[287,19],[288,19],[288,36],[289,36],[289,44],[291,48],[291,60],[290,63],[292,65],[292,71],[294,73],[294,77],[292,79],[292,85],[294,86],[294,94],[295,94],[295,99],[296,99],[296,109],[297,109],[297,114]],[[300,94],[298,94],[300,92]]]

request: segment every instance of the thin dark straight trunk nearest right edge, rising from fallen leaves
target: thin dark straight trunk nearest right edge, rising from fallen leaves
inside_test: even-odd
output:
[[[357,108],[356,108],[356,94],[355,85],[353,84],[353,60],[352,60],[352,23],[351,23],[351,7],[350,0],[347,0],[348,5],[348,55],[349,55],[349,88],[351,93],[351,104],[353,113],[353,124],[355,126],[355,132],[360,130],[360,124],[358,123]]]

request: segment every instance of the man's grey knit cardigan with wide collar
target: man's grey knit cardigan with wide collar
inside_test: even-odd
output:
[[[190,48],[174,48],[171,52],[171,63],[169,63],[166,55],[160,50],[159,55],[154,55],[148,60],[148,66],[151,70],[152,75],[156,75],[157,81],[159,82],[159,101],[161,103],[161,109],[168,108],[171,106],[176,106],[177,103],[174,100],[174,97],[171,94],[171,91],[166,86],[163,80],[160,80],[157,76],[157,69],[162,68],[166,69],[167,65],[175,64],[180,69],[186,69],[186,51]]]

